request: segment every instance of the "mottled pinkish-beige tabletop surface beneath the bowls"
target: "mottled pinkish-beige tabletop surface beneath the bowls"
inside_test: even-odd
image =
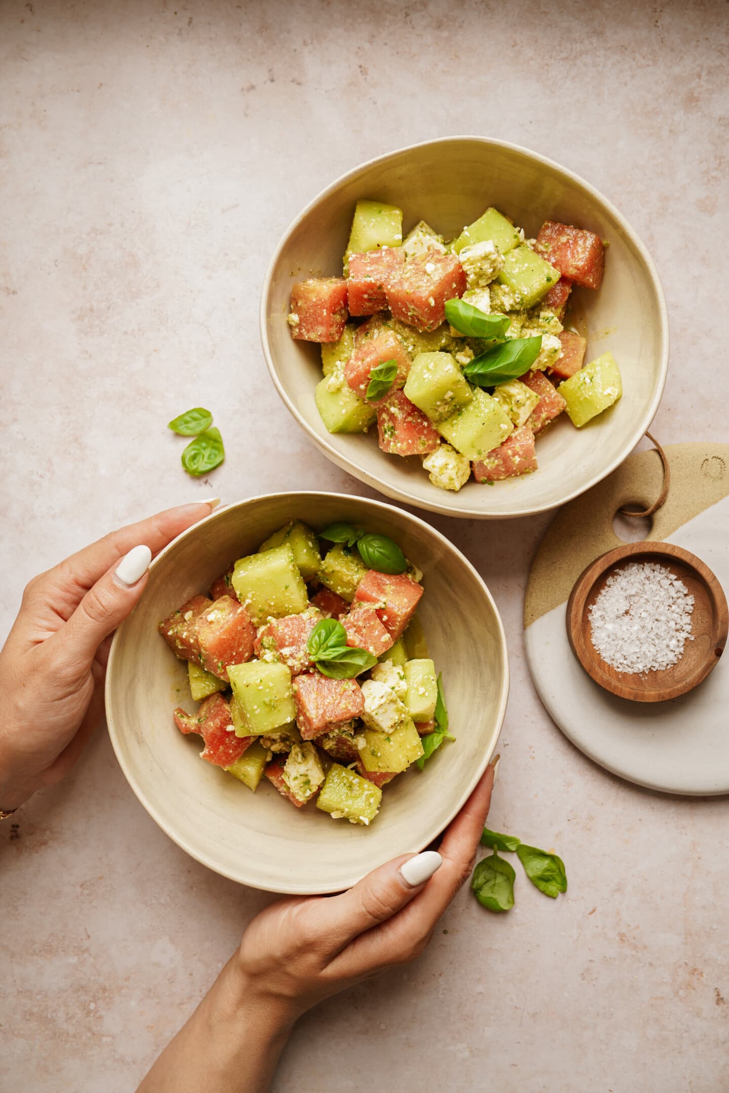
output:
[[[477,37],[487,62],[470,59]],[[728,45],[726,9],[695,0],[376,2],[364,26],[340,0],[5,3],[3,631],[34,573],[155,508],[366,493],[275,395],[258,291],[306,201],[411,141],[512,140],[612,199],[656,259],[671,315],[654,431],[665,444],[726,439]],[[214,411],[227,447],[201,482],[164,428],[195,404]],[[466,1093],[487,1073],[515,1093],[714,1093],[729,1026],[727,801],[636,789],[551,724],[521,644],[549,517],[432,522],[485,577],[509,639],[491,823],[557,849],[569,891],[552,903],[518,877],[498,918],[461,893],[418,964],[301,1022],[274,1089]],[[0,1088],[126,1093],[270,897],[178,849],[103,731],[73,778],[14,821],[0,827]],[[339,1062],[332,1041],[357,1063]]]

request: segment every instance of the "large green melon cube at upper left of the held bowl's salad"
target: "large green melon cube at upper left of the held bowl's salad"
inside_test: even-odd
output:
[[[257,626],[270,616],[298,614],[308,604],[306,585],[289,543],[238,559],[231,579]]]

